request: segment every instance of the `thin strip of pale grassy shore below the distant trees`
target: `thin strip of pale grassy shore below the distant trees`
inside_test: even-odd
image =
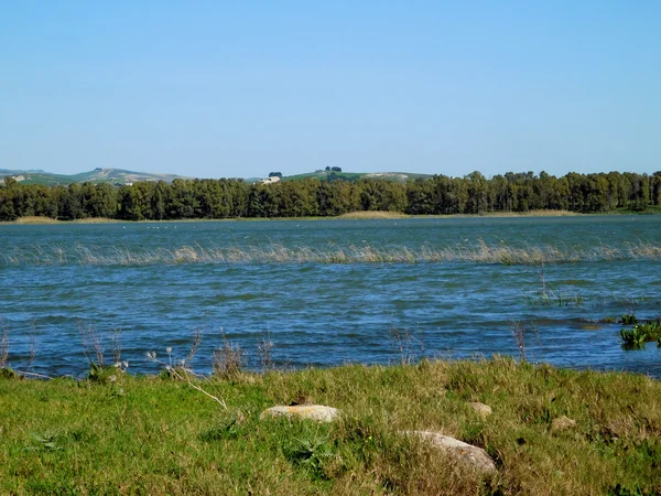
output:
[[[166,220],[122,220],[116,218],[79,218],[76,220],[58,220],[51,217],[19,217],[15,220],[0,222],[2,225],[71,225],[71,224],[153,224],[153,223],[218,223],[218,222],[268,222],[268,220],[377,220],[377,219],[404,219],[404,218],[484,218],[484,217],[600,217],[604,215],[657,215],[661,211],[649,208],[643,212],[615,211],[605,213],[582,214],[570,211],[529,211],[529,212],[485,212],[481,214],[452,214],[452,215],[409,215],[401,212],[349,212],[335,217],[230,217],[230,218],[181,218]]]

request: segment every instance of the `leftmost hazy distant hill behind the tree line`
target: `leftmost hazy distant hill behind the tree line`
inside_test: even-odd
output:
[[[110,183],[116,185],[132,184],[137,181],[165,181],[171,183],[175,179],[189,179],[176,174],[152,174],[149,172],[133,172],[123,169],[95,169],[79,174],[53,174],[42,170],[9,170],[0,169],[0,177],[12,176],[21,184],[43,184],[46,186],[68,185],[73,183]]]

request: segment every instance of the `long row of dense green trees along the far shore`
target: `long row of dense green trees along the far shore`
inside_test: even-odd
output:
[[[242,180],[174,180],[132,185],[21,184],[11,177],[0,187],[0,220],[45,216],[62,220],[107,217],[123,220],[187,218],[336,216],[355,211],[407,214],[483,214],[562,209],[582,213],[617,208],[643,211],[661,205],[661,172],[545,172],[464,177],[435,175],[404,183],[306,179],[275,184]]]

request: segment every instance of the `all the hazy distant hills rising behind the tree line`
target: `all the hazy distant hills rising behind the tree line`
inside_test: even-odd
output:
[[[109,183],[116,185],[132,184],[137,181],[165,181],[172,183],[175,179],[192,179],[176,174],[152,174],[148,172],[134,172],[127,171],[123,169],[95,169],[89,172],[82,172],[79,174],[53,174],[42,170],[11,170],[0,169],[0,184],[3,182],[3,177],[12,176],[21,184],[43,184],[46,186],[56,185],[68,185],[73,183]],[[415,174],[410,172],[337,172],[337,171],[324,171],[318,170],[306,174],[296,174],[283,176],[282,181],[300,181],[308,177],[316,177],[319,181],[333,181],[333,180],[345,180],[345,181],[358,181],[361,177],[375,177],[382,179],[386,181],[398,181],[405,183],[408,180],[414,180],[419,177],[431,177],[430,174]],[[247,183],[257,183],[262,177],[250,177],[246,179]]]

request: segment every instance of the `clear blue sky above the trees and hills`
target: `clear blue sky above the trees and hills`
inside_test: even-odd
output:
[[[661,170],[661,1],[0,6],[0,168]]]

